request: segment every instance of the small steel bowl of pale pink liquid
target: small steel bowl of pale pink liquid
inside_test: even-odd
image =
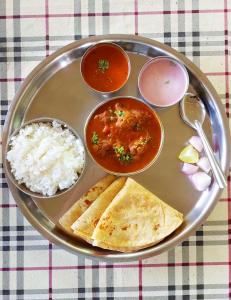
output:
[[[174,58],[158,56],[142,67],[138,87],[149,104],[167,107],[179,102],[188,90],[186,68]]]

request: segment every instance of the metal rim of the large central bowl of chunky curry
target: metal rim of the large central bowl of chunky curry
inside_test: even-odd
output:
[[[87,133],[87,127],[88,127],[88,124],[89,124],[89,121],[91,120],[92,116],[94,115],[94,113],[97,111],[98,108],[100,108],[101,106],[105,105],[106,103],[108,102],[111,102],[111,101],[114,101],[116,99],[132,99],[134,101],[138,101],[138,102],[141,102],[143,103],[154,115],[155,115],[155,118],[157,119],[159,125],[160,125],[160,131],[161,131],[161,139],[160,139],[160,145],[159,145],[159,148],[158,148],[158,151],[156,153],[156,155],[153,157],[153,159],[148,162],[147,165],[145,165],[142,169],[139,169],[139,170],[136,170],[136,171],[133,171],[133,172],[114,172],[114,171],[111,171],[107,168],[105,168],[104,166],[102,166],[100,163],[98,163],[94,156],[92,155],[91,151],[89,150],[88,148],[88,144],[87,144],[87,137],[86,137],[86,133]],[[162,152],[162,149],[163,149],[163,145],[164,145],[164,139],[165,139],[165,132],[164,132],[164,126],[162,124],[162,121],[160,119],[160,117],[158,116],[158,114],[156,113],[156,111],[149,105],[147,104],[146,102],[144,102],[142,99],[139,99],[137,97],[134,97],[134,96],[116,96],[116,97],[112,97],[110,99],[107,99],[101,103],[99,103],[88,115],[86,121],[85,121],[85,125],[84,125],[84,143],[85,143],[85,147],[87,149],[87,152],[89,154],[89,156],[91,157],[91,159],[101,168],[103,169],[105,172],[109,173],[109,174],[112,174],[112,175],[116,175],[116,176],[133,176],[133,175],[136,175],[136,174],[139,174],[139,173],[142,173],[144,171],[146,171],[148,168],[150,168],[159,158],[161,152]]]

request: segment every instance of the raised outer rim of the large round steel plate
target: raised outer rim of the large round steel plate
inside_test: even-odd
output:
[[[3,158],[3,168],[5,171],[5,163],[4,163],[4,157],[5,157],[5,147],[7,144],[7,140],[9,138],[10,132],[11,132],[11,119],[13,117],[13,113],[17,107],[18,100],[22,96],[24,90],[26,89],[27,85],[31,82],[31,80],[39,74],[41,70],[43,70],[44,67],[52,63],[54,60],[58,59],[59,56],[67,53],[70,50],[73,50],[74,48],[79,48],[83,45],[86,45],[89,43],[89,45],[92,45],[92,43],[97,43],[99,41],[118,41],[118,42],[139,42],[143,43],[145,45],[149,45],[153,48],[159,48],[161,50],[164,50],[168,53],[169,56],[176,57],[180,62],[183,62],[187,68],[190,69],[190,72],[193,73],[196,77],[202,77],[203,78],[203,85],[206,91],[213,96],[215,99],[215,106],[216,110],[219,110],[219,113],[221,115],[222,119],[222,127],[224,130],[224,136],[226,137],[226,155],[225,158],[221,157],[221,168],[224,171],[226,175],[228,175],[229,170],[229,164],[230,164],[230,131],[229,131],[229,125],[228,125],[228,119],[226,117],[224,107],[220,101],[220,98],[215,90],[215,88],[212,86],[206,75],[193,63],[191,62],[186,56],[178,52],[177,50],[171,48],[170,46],[163,44],[161,42],[158,42],[156,40],[138,36],[138,35],[127,35],[127,34],[108,34],[108,35],[97,35],[93,37],[87,37],[84,39],[80,39],[77,41],[74,41],[58,50],[56,50],[54,53],[52,53],[50,56],[46,57],[44,60],[42,60],[30,73],[27,75],[27,77],[23,80],[21,83],[21,86],[17,93],[15,94],[13,101],[11,102],[10,108],[8,110],[5,123],[3,126],[3,133],[2,133],[2,158]],[[38,230],[45,238],[50,240],[51,242],[61,246],[62,248],[74,252],[75,254],[83,254],[87,257],[93,258],[93,259],[100,259],[100,260],[109,260],[109,261],[129,261],[129,260],[135,260],[139,258],[147,258],[150,256],[158,255],[162,252],[165,252],[169,249],[172,249],[173,247],[180,244],[183,240],[185,240],[188,236],[193,234],[198,227],[207,219],[215,205],[217,204],[217,201],[219,199],[219,196],[222,193],[222,190],[219,190],[217,187],[213,191],[213,201],[211,201],[209,207],[205,210],[203,214],[200,215],[188,228],[187,231],[184,233],[180,233],[179,235],[173,237],[170,240],[165,241],[164,243],[155,245],[153,247],[143,249],[138,252],[134,253],[109,253],[105,252],[106,254],[102,253],[102,255],[93,254],[90,253],[90,251],[86,251],[85,249],[77,249],[76,246],[71,245],[67,241],[64,241],[62,238],[60,238],[58,235],[54,234],[49,230],[49,228],[45,227],[43,224],[36,219],[34,215],[30,213],[29,208],[26,206],[26,204],[23,201],[20,201],[17,199],[16,192],[12,188],[11,182],[9,182],[9,178],[6,176],[6,181],[8,183],[9,190],[11,191],[14,200],[17,203],[17,206],[20,208],[23,215],[26,217],[26,219],[29,221],[29,223]],[[52,223],[52,221],[49,220],[49,222]],[[91,251],[94,252],[94,251]]]

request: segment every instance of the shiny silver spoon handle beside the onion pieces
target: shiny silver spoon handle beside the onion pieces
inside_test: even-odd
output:
[[[197,120],[195,121],[195,128],[197,130],[198,135],[200,136],[200,138],[202,140],[204,150],[205,150],[205,153],[210,162],[214,177],[216,178],[216,181],[217,181],[219,187],[221,189],[223,189],[227,186],[226,178],[215,158],[215,155],[214,155],[213,150],[209,144],[209,141],[204,133],[204,130],[203,130],[200,122],[198,122]]]

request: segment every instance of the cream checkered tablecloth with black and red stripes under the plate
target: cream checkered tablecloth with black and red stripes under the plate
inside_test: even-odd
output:
[[[213,83],[228,117],[231,0],[0,0],[1,126],[27,74],[82,37],[139,34],[184,53]],[[95,262],[44,239],[0,179],[0,299],[229,299],[231,192],[195,235],[131,263]]]

